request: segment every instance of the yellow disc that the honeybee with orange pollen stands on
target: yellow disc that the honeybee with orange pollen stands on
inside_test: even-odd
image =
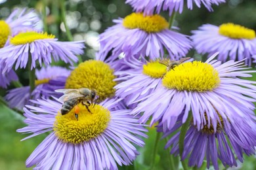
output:
[[[94,139],[108,127],[110,111],[100,105],[87,108],[79,103],[78,119],[75,118],[75,107],[68,114],[56,115],[54,133],[65,143],[79,144]]]

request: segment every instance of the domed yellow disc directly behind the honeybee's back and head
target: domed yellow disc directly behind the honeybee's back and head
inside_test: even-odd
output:
[[[114,69],[103,61],[88,60],[80,63],[68,76],[65,88],[89,88],[96,90],[98,102],[112,97],[116,90]]]

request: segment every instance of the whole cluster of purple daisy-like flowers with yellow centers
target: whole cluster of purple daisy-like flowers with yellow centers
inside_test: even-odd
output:
[[[169,154],[179,155],[182,165],[188,159],[190,167],[201,167],[206,160],[207,168],[219,169],[218,160],[232,167],[244,153],[255,154],[256,82],[246,80],[255,71],[244,65],[251,65],[256,54],[255,32],[228,23],[206,24],[191,37],[183,35],[173,21],[185,2],[190,10],[196,5],[211,11],[225,1],[127,0],[135,12],[100,34],[96,59],[72,69],[51,66],[52,59],[73,65],[83,42],[60,42],[36,29],[39,18],[25,10],[0,21],[5,27],[0,32],[0,86],[17,81],[17,69],[28,68],[30,76],[30,86],[5,96],[10,107],[24,108],[28,126],[18,132],[32,133],[25,139],[50,132],[27,167],[129,165],[139,154],[135,146],[144,146],[147,123],[157,124]],[[160,15],[165,10],[169,22]],[[188,58],[192,48],[207,54],[207,61]],[[91,98],[71,104],[74,99],[66,97],[83,88]]]

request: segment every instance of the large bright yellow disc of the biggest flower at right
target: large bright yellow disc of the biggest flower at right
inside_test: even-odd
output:
[[[163,86],[169,89],[196,92],[211,91],[219,86],[219,73],[209,63],[193,61],[177,65],[163,77]]]

